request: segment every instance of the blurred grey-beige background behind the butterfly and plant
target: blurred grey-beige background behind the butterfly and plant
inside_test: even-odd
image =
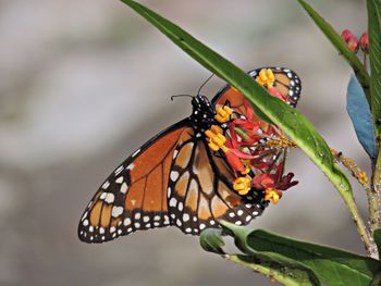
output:
[[[366,29],[364,0],[310,1],[337,29]],[[351,70],[294,0],[150,0],[244,70],[293,69],[298,109],[369,171],[345,111]],[[105,245],[77,239],[90,197],[133,150],[187,116],[210,75],[119,1],[0,0],[0,285],[273,285],[174,227]],[[211,98],[224,85],[212,79]],[[251,223],[365,253],[346,207],[299,150],[299,185]],[[354,183],[366,214],[366,197]]]

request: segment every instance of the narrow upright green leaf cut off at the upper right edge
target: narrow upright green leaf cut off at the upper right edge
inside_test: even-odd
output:
[[[367,0],[369,57],[370,57],[370,95],[373,121],[380,119],[381,113],[381,2]],[[378,126],[381,132],[381,126]]]

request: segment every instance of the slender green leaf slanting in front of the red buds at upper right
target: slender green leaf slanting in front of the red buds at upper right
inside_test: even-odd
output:
[[[310,15],[317,26],[321,29],[321,32],[327,36],[327,38],[332,42],[332,45],[337,49],[337,51],[344,57],[344,59],[348,62],[348,64],[354,70],[358,82],[360,82],[364,91],[367,96],[367,100],[370,104],[370,96],[369,96],[369,75],[365,70],[362,63],[357,58],[356,53],[353,52],[346,42],[341,38],[341,36],[334,30],[334,28],[322,17],[319,15],[317,11],[314,10],[305,0],[297,0],[300,5],[306,10],[306,12]],[[371,105],[371,104],[370,104]],[[373,107],[372,107],[373,108]]]

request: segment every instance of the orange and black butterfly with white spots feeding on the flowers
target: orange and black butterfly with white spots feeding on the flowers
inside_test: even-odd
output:
[[[283,67],[263,69],[273,73],[273,86],[284,101],[295,107],[299,77]],[[258,78],[263,69],[248,74]],[[199,235],[204,228],[219,227],[218,220],[246,225],[262,213],[268,204],[263,194],[234,190],[235,171],[224,156],[210,149],[206,136],[213,124],[226,130],[226,123],[216,121],[217,107],[229,107],[235,117],[251,116],[244,97],[226,85],[211,101],[200,94],[193,97],[192,107],[190,116],[149,139],[105,181],[79,221],[81,240],[105,243],[138,229],[170,225]],[[266,164],[270,169],[284,163],[283,149],[261,153],[260,160],[270,162]]]

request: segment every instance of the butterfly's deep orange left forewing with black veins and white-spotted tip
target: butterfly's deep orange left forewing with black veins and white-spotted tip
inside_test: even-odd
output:
[[[108,177],[81,219],[81,240],[103,243],[137,229],[170,224],[169,172],[177,140],[189,128],[187,122],[155,136]]]

